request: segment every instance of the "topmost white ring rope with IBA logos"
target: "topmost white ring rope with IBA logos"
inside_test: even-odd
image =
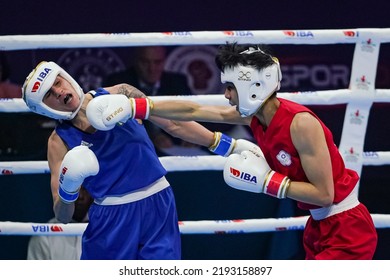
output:
[[[334,30],[240,30],[150,33],[95,33],[0,36],[0,50],[124,47],[148,45],[224,44],[226,41],[262,44],[355,44],[360,33],[372,33],[381,43],[390,42],[390,28]]]

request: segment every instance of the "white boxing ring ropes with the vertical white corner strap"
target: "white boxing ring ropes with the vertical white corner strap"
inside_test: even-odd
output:
[[[376,89],[375,78],[380,45],[390,43],[390,28],[276,31],[196,31],[121,34],[62,34],[0,36],[0,50],[50,48],[131,47],[146,45],[213,45],[226,41],[262,44],[354,44],[351,78],[347,89],[281,92],[283,97],[303,105],[346,104],[339,145],[347,167],[361,175],[363,166],[390,164],[390,151],[364,151],[368,117],[373,103],[389,103],[390,89]],[[27,73],[27,72],[26,72]],[[155,96],[154,100],[183,99],[202,104],[228,105],[221,94],[197,96]],[[0,112],[29,112],[22,99],[0,99]],[[357,117],[363,116],[363,117]],[[168,172],[222,171],[221,156],[160,157]],[[49,173],[46,161],[0,162],[1,175]],[[390,215],[371,214],[376,228],[390,228]],[[302,230],[308,216],[266,219],[180,221],[182,234],[254,233]],[[0,235],[81,235],[86,224],[44,224],[0,222]]]

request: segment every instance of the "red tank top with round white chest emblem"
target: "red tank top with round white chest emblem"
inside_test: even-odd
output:
[[[332,132],[308,108],[286,99],[278,98],[278,100],[280,101],[280,107],[276,111],[276,114],[266,131],[264,131],[263,126],[257,118],[252,118],[250,125],[253,135],[258,145],[263,150],[269,166],[273,170],[288,176],[292,181],[308,182],[298,152],[295,149],[290,136],[290,125],[294,116],[300,112],[308,112],[317,118],[325,133],[326,143],[332,161],[333,182],[335,187],[333,202],[338,203],[342,201],[355,187],[359,180],[359,175],[354,170],[345,168],[343,158],[333,141]],[[319,162],[318,164],[321,163]],[[304,210],[319,208],[316,205],[310,205],[299,201],[298,207]]]

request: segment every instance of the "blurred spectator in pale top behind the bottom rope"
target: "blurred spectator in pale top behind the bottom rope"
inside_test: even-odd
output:
[[[84,189],[80,189],[75,202],[74,223],[88,222],[88,209],[92,198]],[[60,223],[52,218],[49,223]],[[27,248],[28,260],[79,260],[81,256],[81,235],[76,236],[33,236]]]

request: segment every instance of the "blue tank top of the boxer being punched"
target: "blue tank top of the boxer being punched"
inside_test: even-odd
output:
[[[95,97],[102,94],[109,93],[99,88]],[[56,132],[69,149],[86,145],[96,154],[99,173],[87,177],[83,183],[93,198],[127,194],[150,185],[167,173],[144,126],[136,120],[92,134],[64,121],[57,125]]]

